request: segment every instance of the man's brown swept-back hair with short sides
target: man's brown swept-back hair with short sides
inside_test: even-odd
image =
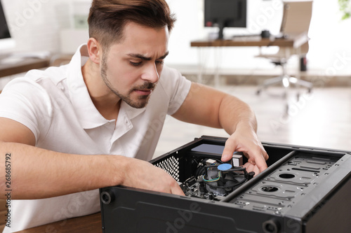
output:
[[[110,48],[123,38],[128,22],[145,27],[173,28],[176,17],[165,0],[93,0],[88,17],[89,36]]]

